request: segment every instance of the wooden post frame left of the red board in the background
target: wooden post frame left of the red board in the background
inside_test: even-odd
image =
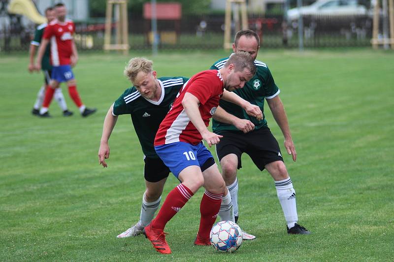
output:
[[[117,23],[115,24],[115,44],[111,44],[112,11],[115,5]],[[127,19],[127,0],[107,0],[105,15],[104,50],[123,51],[124,55],[129,53],[129,29]]]

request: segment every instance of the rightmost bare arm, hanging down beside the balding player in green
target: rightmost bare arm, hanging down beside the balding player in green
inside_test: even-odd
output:
[[[282,100],[279,96],[275,96],[271,99],[267,99],[267,103],[269,109],[272,112],[272,116],[274,116],[276,123],[282,130],[282,134],[285,138],[285,148],[289,155],[292,155],[293,161],[296,162],[297,159],[297,152],[296,147],[294,146],[292,134],[290,133],[289,122],[287,120],[285,108],[283,107]]]

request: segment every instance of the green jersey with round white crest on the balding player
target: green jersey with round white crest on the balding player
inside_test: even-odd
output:
[[[229,58],[223,58],[218,60],[210,69],[221,69],[228,59]],[[251,104],[259,106],[263,112],[264,98],[274,98],[280,91],[275,85],[274,79],[267,65],[258,60],[255,60],[255,64],[257,67],[256,75],[247,82],[243,88],[235,89],[233,92]],[[233,103],[221,99],[219,105],[231,115],[237,116],[241,119],[250,120],[255,125],[256,130],[267,126],[267,120],[265,120],[264,114],[263,119],[259,121],[256,117],[246,114],[245,110]],[[239,131],[235,126],[219,122],[215,119],[212,121],[212,130],[217,134],[224,131]]]

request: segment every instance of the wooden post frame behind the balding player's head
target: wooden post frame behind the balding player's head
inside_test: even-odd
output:
[[[224,49],[231,49],[232,48],[232,42],[230,41],[231,38],[231,4],[235,3],[237,5],[236,12],[237,14],[234,14],[235,18],[238,18],[236,20],[239,20],[239,8],[238,6],[240,5],[241,7],[241,23],[242,23],[242,29],[248,29],[248,16],[246,13],[246,1],[245,0],[226,0],[226,16],[225,16],[225,35],[224,35],[224,44],[223,47]],[[236,25],[236,28],[238,25]]]

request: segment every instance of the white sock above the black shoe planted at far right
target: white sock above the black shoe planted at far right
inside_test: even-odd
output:
[[[296,191],[294,191],[292,179],[288,177],[284,180],[275,181],[275,187],[287,226],[291,229],[298,221]]]

